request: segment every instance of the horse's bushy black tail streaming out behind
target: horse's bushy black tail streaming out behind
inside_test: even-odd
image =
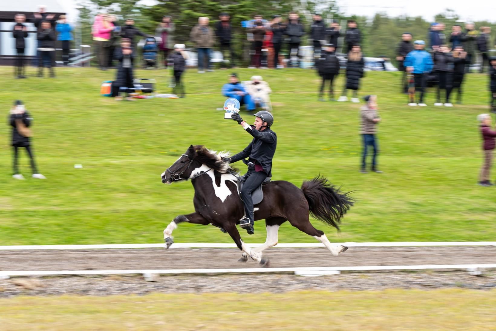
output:
[[[302,190],[309,203],[310,215],[339,231],[341,218],[353,206],[351,192],[341,193],[341,187],[335,188],[321,175],[304,181]]]

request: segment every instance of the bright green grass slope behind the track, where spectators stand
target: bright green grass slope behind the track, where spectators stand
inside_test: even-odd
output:
[[[30,68],[34,73],[35,70]],[[481,165],[476,115],[488,112],[488,78],[468,75],[464,105],[408,107],[398,93],[400,73],[367,73],[360,94],[378,95],[379,165],[383,174],[359,173],[360,104],[319,102],[317,76],[310,70],[237,70],[242,80],[261,74],[274,93],[278,147],[273,179],[301,185],[321,173],[356,205],[334,241],[490,241],[496,234],[495,190],[475,185]],[[164,185],[159,175],[190,144],[237,153],[250,141],[222,119],[220,95],[228,72],[185,75],[186,99],[116,102],[99,96],[111,71],[58,68],[57,79],[3,77],[4,115],[22,99],[34,117],[34,150],[47,180],[19,181],[11,175],[10,128],[0,127],[0,243],[3,245],[156,243],[176,215],[192,212],[189,182]],[[170,73],[143,71],[159,92]],[[338,92],[342,77],[336,84]],[[165,116],[159,116],[165,115]],[[242,116],[248,118],[246,112]],[[81,164],[83,168],[74,168]],[[244,166],[240,164],[242,170]],[[22,155],[22,173],[30,174]],[[263,242],[264,223],[245,241]],[[230,242],[213,227],[181,224],[177,242]],[[279,242],[314,242],[285,224]]]

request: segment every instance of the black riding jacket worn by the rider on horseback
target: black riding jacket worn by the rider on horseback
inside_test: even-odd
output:
[[[231,163],[248,158],[248,162],[261,165],[267,176],[272,176],[272,158],[276,152],[277,136],[270,128],[258,131],[254,126],[247,126],[245,129],[253,140],[242,152],[231,157]]]

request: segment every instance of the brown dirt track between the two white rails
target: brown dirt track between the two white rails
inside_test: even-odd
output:
[[[271,248],[270,267],[496,263],[496,247],[357,247],[334,257],[325,248]],[[254,268],[231,248],[4,250],[0,270]]]

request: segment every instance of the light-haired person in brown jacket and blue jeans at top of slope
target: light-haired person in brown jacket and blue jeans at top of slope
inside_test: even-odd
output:
[[[208,17],[198,18],[198,24],[196,24],[189,37],[191,41],[195,44],[196,51],[198,52],[198,73],[203,74],[205,71],[205,60],[207,62],[207,71],[213,71],[210,65],[211,48],[215,44],[215,34],[213,30],[208,26]]]

